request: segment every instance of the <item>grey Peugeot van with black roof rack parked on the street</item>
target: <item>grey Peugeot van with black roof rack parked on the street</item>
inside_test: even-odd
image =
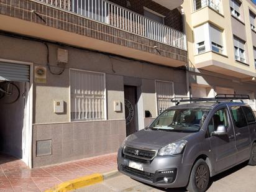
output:
[[[174,99],[176,106],[124,140],[118,170],[153,186],[206,191],[211,176],[247,160],[256,165],[254,112],[243,102],[220,101],[246,98],[229,97]]]

